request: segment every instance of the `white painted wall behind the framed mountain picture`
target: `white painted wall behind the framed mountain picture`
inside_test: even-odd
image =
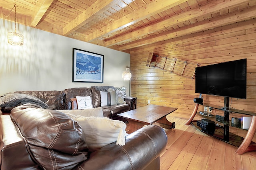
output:
[[[64,90],[73,87],[126,86],[122,72],[130,54],[17,24],[24,45],[7,42],[14,23],[0,19],[0,95],[18,90]],[[72,48],[104,55],[104,82],[72,82]],[[129,89],[128,89],[129,90]],[[127,94],[129,91],[127,90]]]

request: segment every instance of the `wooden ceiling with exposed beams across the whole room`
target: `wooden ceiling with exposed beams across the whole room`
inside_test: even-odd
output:
[[[1,0],[0,18],[14,4],[18,23],[124,52],[256,17],[256,0]]]

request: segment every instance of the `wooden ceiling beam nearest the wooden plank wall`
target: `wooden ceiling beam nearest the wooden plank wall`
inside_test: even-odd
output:
[[[119,46],[119,51],[132,49],[134,47],[140,47],[143,45],[149,45],[152,43],[156,43],[158,41],[164,41],[167,39],[172,39],[176,37],[180,37],[182,35],[186,35],[189,33],[196,33],[199,31],[213,29],[215,27],[221,27],[222,25],[227,25],[227,23],[236,23],[239,21],[249,20],[256,16],[256,6],[252,6],[246,8],[246,10],[242,9],[238,12],[229,13],[223,16],[218,16],[216,18],[212,18],[210,20],[201,21],[195,24],[188,25],[186,27],[181,27],[179,29],[165,32],[162,35],[148,37],[146,39],[134,41],[132,43],[127,43],[125,45]],[[105,42],[106,43],[106,42]]]

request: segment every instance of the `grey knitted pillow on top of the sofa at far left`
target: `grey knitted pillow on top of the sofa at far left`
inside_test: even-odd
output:
[[[0,96],[0,107],[4,108],[5,111],[10,111],[14,107],[27,103],[37,104],[44,109],[48,108],[48,105],[42,100],[28,94],[7,93]]]

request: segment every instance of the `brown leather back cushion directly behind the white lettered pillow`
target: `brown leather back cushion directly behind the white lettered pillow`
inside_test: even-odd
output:
[[[68,88],[64,90],[66,94],[66,108],[65,109],[72,109],[71,107],[71,98],[76,98],[76,96],[90,96],[92,97],[92,92],[90,88],[81,87],[81,88]],[[94,107],[94,105],[93,105]],[[60,109],[59,109],[60,110]]]

